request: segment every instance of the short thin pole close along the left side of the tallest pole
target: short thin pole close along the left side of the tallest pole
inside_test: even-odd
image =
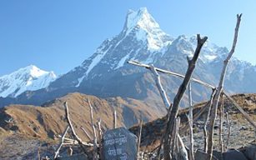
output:
[[[211,108],[213,107],[213,97],[216,94],[216,89],[213,89],[213,92],[211,94],[210,100],[209,100],[209,106],[208,106],[208,113],[205,118],[204,124],[203,124],[203,138],[204,138],[204,143],[203,143],[203,152],[207,153],[207,148],[208,148],[208,134],[207,134],[207,125],[208,125],[208,119],[211,113]]]

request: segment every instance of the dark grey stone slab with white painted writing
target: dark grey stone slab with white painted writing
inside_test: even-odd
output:
[[[126,128],[103,134],[103,160],[136,160],[138,138]]]

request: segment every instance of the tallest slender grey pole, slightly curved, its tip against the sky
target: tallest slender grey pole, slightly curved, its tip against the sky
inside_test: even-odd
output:
[[[239,29],[240,22],[241,22],[241,16],[242,16],[242,14],[237,15],[237,24],[236,24],[236,28],[235,28],[235,32],[234,32],[234,37],[233,37],[233,47],[232,47],[231,51],[228,53],[228,57],[223,62],[223,70],[221,72],[220,80],[218,82],[218,90],[216,92],[216,95],[213,97],[213,107],[211,110],[210,121],[209,121],[209,131],[208,131],[208,133],[209,133],[208,134],[208,150],[207,150],[207,159],[208,160],[212,160],[212,158],[213,158],[213,127],[214,127],[215,119],[217,116],[218,101],[219,101],[220,94],[223,90],[223,82],[224,82],[224,79],[226,76],[228,62],[229,62],[229,59],[233,55],[233,52],[234,52],[234,49],[235,49],[235,46],[237,43],[238,29]]]

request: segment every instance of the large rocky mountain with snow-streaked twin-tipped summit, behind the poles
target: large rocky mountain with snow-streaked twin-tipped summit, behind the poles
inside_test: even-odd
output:
[[[98,97],[133,97],[143,100],[155,108],[156,112],[165,112],[151,72],[132,66],[127,61],[136,60],[184,74],[188,66],[187,57],[193,56],[196,45],[195,36],[171,37],[163,32],[146,8],[129,10],[123,30],[117,36],[106,39],[80,66],[58,77],[46,88],[24,92],[15,99],[0,98],[0,104],[40,105],[68,92],[83,92]],[[227,54],[226,47],[206,42],[193,77],[216,85]],[[228,66],[225,90],[231,93],[255,92],[255,75],[255,66],[233,57]],[[172,100],[181,79],[162,74],[161,76],[163,87]],[[193,84],[192,87],[194,102],[206,100],[211,92],[198,84]],[[186,106],[187,98],[186,95],[183,97],[183,107]]]

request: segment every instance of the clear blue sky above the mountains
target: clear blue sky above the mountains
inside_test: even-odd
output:
[[[243,13],[234,55],[256,63],[256,1],[2,0],[0,76],[34,64],[57,74],[78,66],[121,32],[128,9],[147,7],[164,32],[196,33],[230,48],[236,14]]]

